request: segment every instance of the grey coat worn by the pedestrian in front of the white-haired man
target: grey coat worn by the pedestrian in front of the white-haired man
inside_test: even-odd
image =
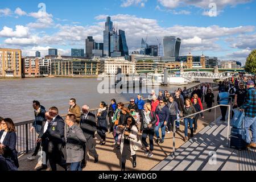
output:
[[[86,143],[86,138],[82,129],[76,124],[71,126],[67,133],[67,163],[81,162],[84,158],[82,145]]]

